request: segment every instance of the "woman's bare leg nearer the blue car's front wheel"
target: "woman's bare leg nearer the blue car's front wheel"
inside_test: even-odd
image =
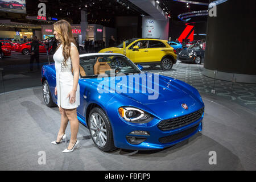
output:
[[[74,144],[76,143],[77,133],[79,130],[79,121],[77,119],[76,108],[75,109],[65,109],[65,113],[70,122],[71,128],[71,139],[68,145],[68,150],[71,150]]]

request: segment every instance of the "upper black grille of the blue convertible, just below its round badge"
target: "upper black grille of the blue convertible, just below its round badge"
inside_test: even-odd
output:
[[[204,113],[204,107],[191,114],[183,115],[177,118],[163,120],[158,124],[158,127],[160,130],[163,130],[163,131],[173,130],[178,127],[182,127],[192,122],[195,122],[197,119],[200,119],[202,117],[203,113]]]

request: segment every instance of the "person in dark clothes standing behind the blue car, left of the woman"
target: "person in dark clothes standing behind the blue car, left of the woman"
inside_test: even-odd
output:
[[[33,41],[31,43],[31,47],[30,47],[30,71],[33,71],[34,60],[36,60],[38,69],[40,69],[40,66],[39,66],[39,42],[36,39],[37,39],[37,37],[34,36]]]

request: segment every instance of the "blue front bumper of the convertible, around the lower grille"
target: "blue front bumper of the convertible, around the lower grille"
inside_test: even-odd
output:
[[[128,150],[157,150],[173,146],[185,139],[192,137],[198,131],[202,130],[204,113],[201,118],[197,119],[188,125],[179,127],[177,129],[163,131],[160,130],[158,124],[161,120],[152,119],[149,123],[134,124],[125,121],[118,121],[118,128],[113,128],[114,144],[117,148]],[[121,118],[119,118],[121,119]],[[147,131],[149,135],[135,135],[132,131]],[[134,137],[144,140],[139,144],[131,144],[128,138]]]

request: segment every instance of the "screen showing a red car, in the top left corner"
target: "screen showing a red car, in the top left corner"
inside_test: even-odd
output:
[[[0,11],[26,14],[26,0],[0,0]]]

